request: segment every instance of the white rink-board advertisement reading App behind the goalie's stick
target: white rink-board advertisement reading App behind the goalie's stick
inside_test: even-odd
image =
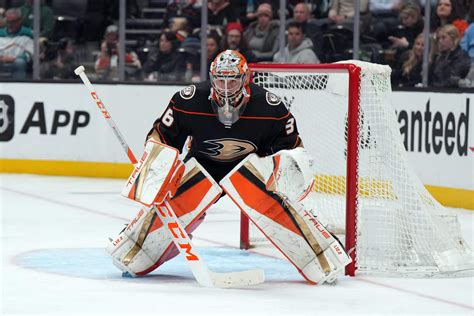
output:
[[[129,146],[146,134],[178,87],[95,85]],[[80,84],[2,83],[3,159],[128,162],[112,129]]]

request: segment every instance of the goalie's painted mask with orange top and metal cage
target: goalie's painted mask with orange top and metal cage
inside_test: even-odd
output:
[[[211,64],[212,109],[219,121],[230,128],[245,110],[250,98],[250,70],[245,57],[235,50],[225,50]]]

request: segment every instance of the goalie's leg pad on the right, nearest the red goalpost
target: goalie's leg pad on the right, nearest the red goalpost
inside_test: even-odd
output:
[[[351,259],[311,211],[278,192],[278,183],[272,185],[272,181],[281,181],[269,172],[279,168],[274,158],[250,155],[220,184],[306,280],[315,284],[332,281]]]

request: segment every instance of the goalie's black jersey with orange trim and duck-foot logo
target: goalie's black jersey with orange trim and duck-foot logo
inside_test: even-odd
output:
[[[209,100],[209,81],[177,92],[148,136],[182,150],[220,181],[250,153],[267,156],[301,145],[295,118],[275,94],[251,83],[250,100],[240,119],[226,128]]]

